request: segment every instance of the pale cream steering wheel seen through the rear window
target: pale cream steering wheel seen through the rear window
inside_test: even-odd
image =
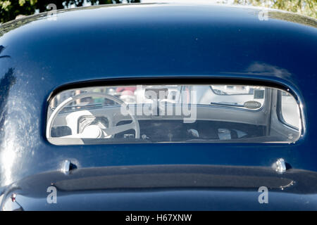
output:
[[[56,107],[56,109],[53,111],[53,113],[51,113],[51,116],[49,117],[49,120],[47,121],[47,125],[46,125],[46,138],[47,139],[51,138],[51,127],[52,127],[52,124],[53,124],[56,116],[58,115],[58,113],[61,112],[61,110],[66,105],[68,105],[69,103],[72,103],[73,101],[76,101],[77,99],[91,97],[91,96],[107,98],[107,99],[109,99],[111,101],[114,101],[114,102],[120,104],[120,107],[123,106],[125,108],[128,108],[127,104],[125,104],[119,98],[117,98],[115,96],[111,96],[109,94],[98,93],[98,92],[90,92],[90,93],[84,93],[84,94],[78,94],[76,96],[72,96],[70,98],[67,98],[61,104],[59,104]],[[94,134],[97,133],[97,138],[100,138],[102,133],[106,134],[106,136],[111,136],[113,134],[118,134],[120,132],[127,131],[129,129],[134,129],[135,130],[135,139],[139,139],[139,122],[137,121],[137,118],[135,117],[135,115],[133,115],[133,113],[130,112],[130,109],[128,109],[127,111],[128,111],[128,114],[130,115],[130,117],[132,118],[132,122],[130,124],[123,124],[123,125],[119,125],[119,126],[115,126],[115,127],[108,127],[108,128],[105,128],[105,129],[101,129],[101,127],[98,127],[97,125],[89,125],[88,127],[91,127],[92,129],[88,129],[87,132],[89,132],[90,134],[91,133],[94,133]],[[85,131],[85,129],[84,129],[84,131]],[[85,136],[84,137],[73,136],[73,137],[85,138]]]

